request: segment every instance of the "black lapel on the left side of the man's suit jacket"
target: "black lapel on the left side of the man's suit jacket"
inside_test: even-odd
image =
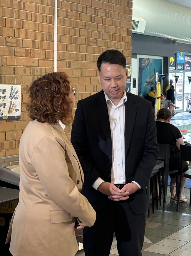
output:
[[[103,90],[100,92],[100,95],[98,95],[97,102],[95,103],[95,108],[105,138],[107,139],[108,144],[112,148],[108,108]]]

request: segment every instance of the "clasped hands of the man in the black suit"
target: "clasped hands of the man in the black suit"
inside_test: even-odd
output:
[[[108,195],[108,198],[113,201],[123,201],[129,198],[129,195],[135,193],[139,187],[135,183],[127,183],[122,189],[119,189],[110,182],[102,182],[98,189],[101,193]]]

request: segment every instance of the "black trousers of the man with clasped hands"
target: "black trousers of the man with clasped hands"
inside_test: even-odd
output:
[[[145,213],[133,213],[126,201],[112,201],[97,211],[96,222],[83,229],[85,256],[108,256],[113,241],[117,240],[120,256],[141,256],[145,234]]]

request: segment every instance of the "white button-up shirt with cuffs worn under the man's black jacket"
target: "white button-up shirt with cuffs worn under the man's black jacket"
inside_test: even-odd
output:
[[[125,102],[127,95],[124,91],[123,97],[117,106],[106,94],[105,100],[108,107],[112,141],[111,183],[125,184]],[[102,182],[104,180],[98,177],[92,187],[97,189]],[[135,181],[132,182],[137,184]],[[139,184],[137,185],[141,188]]]

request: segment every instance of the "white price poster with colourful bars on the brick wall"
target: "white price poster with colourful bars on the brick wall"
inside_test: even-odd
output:
[[[21,118],[21,85],[0,84],[0,120]]]

